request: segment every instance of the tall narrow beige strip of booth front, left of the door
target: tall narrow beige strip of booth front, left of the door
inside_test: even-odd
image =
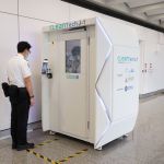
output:
[[[59,130],[59,74],[60,74],[60,51],[58,34],[50,33],[49,40],[49,68],[52,79],[47,79],[50,83],[49,103],[50,103],[50,130],[58,132]]]

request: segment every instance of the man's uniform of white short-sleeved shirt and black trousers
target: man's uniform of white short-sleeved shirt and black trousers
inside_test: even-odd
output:
[[[9,95],[11,102],[11,136],[15,145],[27,143],[26,131],[30,95],[25,87],[24,78],[31,77],[28,62],[21,54],[12,57],[8,63]]]

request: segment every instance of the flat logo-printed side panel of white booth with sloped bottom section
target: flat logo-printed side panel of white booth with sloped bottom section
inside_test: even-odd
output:
[[[131,55],[131,58],[136,59],[133,61],[121,61],[120,55]],[[106,131],[95,145],[96,149],[131,132],[134,128],[139,107],[138,55],[138,48],[124,46],[114,48],[112,122],[108,126],[106,125]]]

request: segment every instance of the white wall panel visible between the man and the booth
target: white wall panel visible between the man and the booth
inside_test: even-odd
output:
[[[32,45],[30,55],[30,66],[33,73],[35,106],[30,113],[30,122],[40,120],[40,50],[42,50],[42,28],[49,23],[20,17],[20,39],[27,40]]]

